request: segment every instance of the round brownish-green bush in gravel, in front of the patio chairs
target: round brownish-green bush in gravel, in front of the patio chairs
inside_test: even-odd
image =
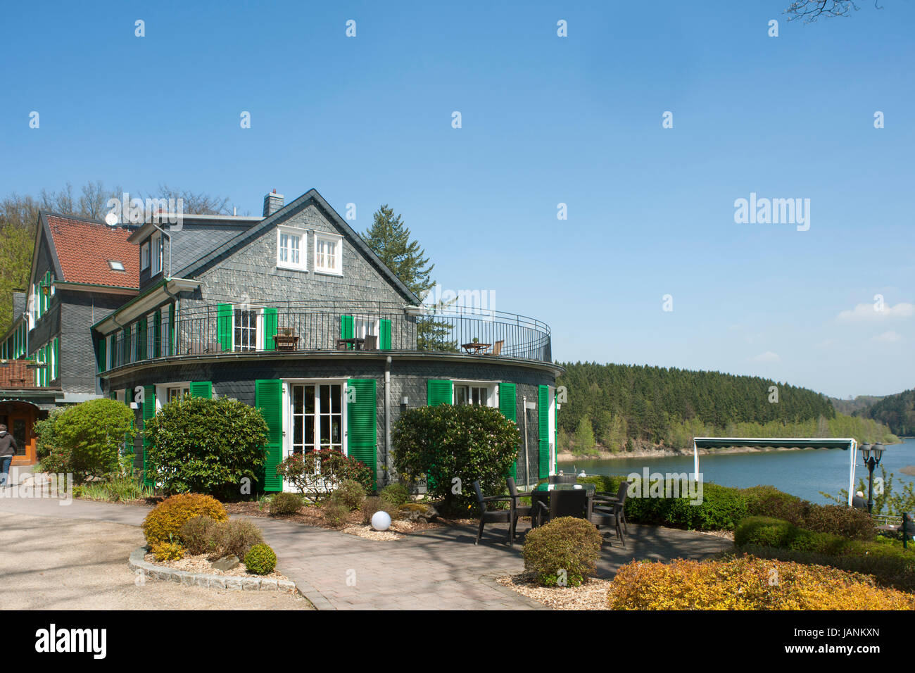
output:
[[[603,536],[595,526],[575,516],[561,516],[531,530],[524,540],[524,570],[544,586],[576,587],[597,570]]]

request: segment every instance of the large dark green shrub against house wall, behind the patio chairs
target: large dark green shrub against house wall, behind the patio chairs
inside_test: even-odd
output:
[[[474,482],[484,494],[505,487],[521,434],[497,408],[437,405],[404,411],[394,423],[392,442],[399,474],[411,482],[425,474],[427,492],[443,500],[443,511],[466,512],[476,504]]]

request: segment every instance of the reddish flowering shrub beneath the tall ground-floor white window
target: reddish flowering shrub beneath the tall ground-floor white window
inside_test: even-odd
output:
[[[361,483],[366,491],[371,491],[375,482],[375,475],[364,462],[327,449],[294,453],[276,466],[276,474],[315,502],[328,498],[348,479]]]

